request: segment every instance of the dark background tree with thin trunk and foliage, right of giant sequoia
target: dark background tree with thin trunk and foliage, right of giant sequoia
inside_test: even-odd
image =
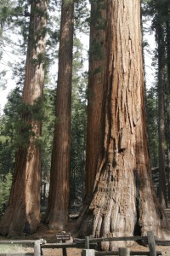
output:
[[[155,32],[156,50],[153,67],[156,70],[156,82],[148,91],[146,106],[153,103],[152,112],[148,108],[148,134],[150,144],[150,163],[159,166],[158,196],[161,204],[169,201],[169,43],[168,24],[170,15],[167,10],[168,1],[146,1],[144,15],[150,17],[150,30]],[[150,96],[153,96],[152,100]],[[150,102],[150,103],[149,103]],[[150,119],[151,117],[151,119]],[[150,123],[151,121],[151,123]],[[152,124],[152,125],[151,125]],[[152,126],[152,129],[150,127]],[[154,128],[155,127],[155,128]],[[151,133],[155,133],[155,137]],[[156,138],[156,139],[155,139]],[[156,157],[157,155],[157,157]],[[167,184],[167,186],[166,186]]]

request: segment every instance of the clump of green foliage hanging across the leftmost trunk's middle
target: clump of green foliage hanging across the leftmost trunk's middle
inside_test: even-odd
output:
[[[13,139],[14,148],[26,147],[31,137],[35,137],[40,143],[40,137],[37,137],[32,131],[32,122],[42,121],[44,119],[45,106],[42,98],[38,98],[33,105],[21,101],[21,92],[19,88],[14,89],[8,96],[8,103],[4,108],[5,113],[5,131],[8,137]]]

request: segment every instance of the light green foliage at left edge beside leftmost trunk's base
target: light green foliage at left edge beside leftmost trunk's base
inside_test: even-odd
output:
[[[0,216],[3,214],[5,207],[8,204],[13,175],[11,172],[3,177],[0,177]]]

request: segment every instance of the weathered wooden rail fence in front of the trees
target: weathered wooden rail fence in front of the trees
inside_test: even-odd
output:
[[[67,234],[65,234],[65,237]],[[133,251],[131,252],[127,247],[120,247],[118,251],[109,251],[109,252],[98,252],[94,250],[94,247],[98,245],[101,241],[144,241],[145,244],[148,244],[149,250],[147,252]],[[63,256],[67,256],[67,248],[77,247],[82,248],[82,256],[106,256],[106,255],[119,255],[119,256],[129,256],[129,255],[150,255],[158,256],[161,255],[161,252],[156,251],[156,245],[170,245],[170,241],[162,241],[155,238],[154,234],[149,231],[147,236],[123,236],[123,237],[101,237],[94,238],[92,236],[86,236],[85,239],[75,238],[73,242],[65,242],[61,239],[59,243],[47,243],[45,240],[21,240],[21,241],[0,241],[0,244],[33,244],[34,253],[0,253],[0,256],[41,256],[43,255],[43,248],[62,248]]]

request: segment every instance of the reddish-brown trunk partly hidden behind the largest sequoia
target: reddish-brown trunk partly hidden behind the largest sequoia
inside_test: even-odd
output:
[[[105,21],[106,1],[91,1],[90,55],[88,76],[88,131],[86,157],[85,198],[92,192],[101,158],[99,148],[102,129],[101,114],[105,73]]]

